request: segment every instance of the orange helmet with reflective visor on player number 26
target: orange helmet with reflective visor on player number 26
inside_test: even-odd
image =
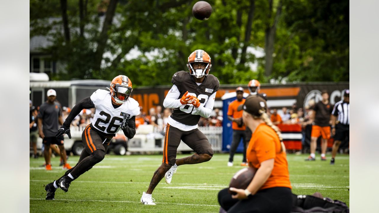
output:
[[[119,105],[127,101],[133,91],[132,81],[125,75],[119,75],[113,78],[110,86],[112,99]]]

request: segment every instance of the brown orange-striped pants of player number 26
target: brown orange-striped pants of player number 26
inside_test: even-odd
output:
[[[88,125],[81,134],[81,141],[89,154],[95,150],[103,150],[106,153],[112,138],[113,136],[107,136],[97,132],[91,125]]]

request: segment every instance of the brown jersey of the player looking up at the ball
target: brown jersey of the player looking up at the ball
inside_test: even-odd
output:
[[[189,72],[183,70],[176,72],[172,76],[171,82],[177,86],[180,92],[178,99],[188,91],[188,94],[196,96],[200,100],[200,103],[206,103],[208,98],[218,91],[220,85],[220,82],[214,75],[206,75],[203,83],[197,85],[194,77]],[[186,105],[183,109],[182,107],[175,108],[171,118],[182,124],[194,126],[200,120],[200,115],[192,114],[194,111],[191,105]]]

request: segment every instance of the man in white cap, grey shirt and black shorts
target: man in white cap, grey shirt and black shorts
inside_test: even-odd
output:
[[[63,168],[71,169],[67,163],[66,150],[64,149],[63,136],[56,138],[55,133],[58,131],[58,122],[63,124],[61,104],[56,101],[56,92],[54,89],[47,91],[47,101],[39,107],[38,113],[39,136],[45,145],[44,157],[46,161],[46,170],[52,170],[50,163],[50,144],[56,144],[60,149],[60,156],[63,160]],[[42,128],[43,125],[43,128]]]

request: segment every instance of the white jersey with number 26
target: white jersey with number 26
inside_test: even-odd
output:
[[[124,113],[128,114],[129,117],[139,114],[139,104],[131,97],[115,109],[109,91],[104,89],[98,89],[94,92],[91,95],[91,100],[96,108],[92,126],[100,132],[115,134],[121,127]]]

